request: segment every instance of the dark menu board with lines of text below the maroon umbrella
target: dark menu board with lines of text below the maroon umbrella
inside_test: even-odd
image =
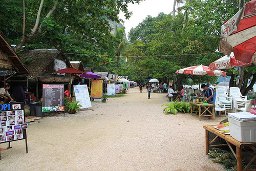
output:
[[[64,84],[42,84],[42,112],[64,110]]]

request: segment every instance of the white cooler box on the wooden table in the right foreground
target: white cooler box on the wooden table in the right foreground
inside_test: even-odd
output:
[[[230,136],[249,143],[256,142],[256,115],[249,112],[228,114]]]

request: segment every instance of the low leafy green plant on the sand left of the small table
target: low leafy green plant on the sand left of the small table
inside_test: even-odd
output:
[[[165,112],[165,115],[167,115],[168,112],[174,115],[176,115],[178,112],[182,112],[182,113],[190,112],[190,104],[182,101],[181,102],[172,101],[170,103],[165,103],[162,106],[166,106],[163,110]]]

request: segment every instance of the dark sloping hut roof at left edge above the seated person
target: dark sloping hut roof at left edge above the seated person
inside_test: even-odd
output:
[[[19,74],[29,74],[29,70],[12,48],[10,42],[0,31],[0,76],[10,75],[13,71]]]

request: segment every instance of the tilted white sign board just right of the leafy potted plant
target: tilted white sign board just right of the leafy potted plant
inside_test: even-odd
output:
[[[75,91],[76,101],[79,101],[78,104],[82,105],[80,109],[92,107],[89,92],[88,92],[88,87],[86,84],[74,86],[74,91]]]

